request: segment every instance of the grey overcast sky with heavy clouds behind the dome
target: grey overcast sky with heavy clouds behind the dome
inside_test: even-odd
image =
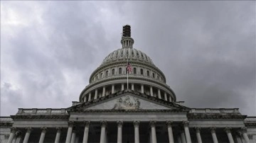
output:
[[[1,1],[1,116],[68,108],[90,74],[134,47],[189,108],[256,115],[255,1]]]

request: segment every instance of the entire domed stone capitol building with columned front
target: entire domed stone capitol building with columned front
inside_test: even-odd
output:
[[[134,49],[124,25],[122,48],[111,52],[90,84],[68,108],[18,108],[0,117],[0,141],[8,143],[252,143],[256,117],[238,108],[189,108],[166,76]],[[132,66],[128,71],[127,59]],[[128,83],[128,84],[127,84]]]

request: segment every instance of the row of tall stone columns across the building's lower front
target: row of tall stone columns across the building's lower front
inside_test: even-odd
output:
[[[157,139],[156,139],[156,124],[157,122],[154,120],[149,121],[149,125],[151,128],[151,143],[156,143]],[[85,121],[85,128],[84,128],[84,135],[82,138],[82,143],[87,143],[88,142],[88,135],[89,135],[89,127],[90,127],[90,121]],[[107,121],[106,120],[102,120],[100,121],[100,125],[101,125],[101,132],[100,132],[100,143],[106,143],[106,139],[107,139],[107,131],[106,131],[106,127],[107,127]],[[123,122],[122,121],[117,121],[117,143],[122,143],[122,125]],[[134,125],[134,143],[139,143],[139,121],[135,120],[133,121],[133,125]],[[169,143],[174,143],[174,133],[173,133],[173,129],[172,129],[172,125],[173,125],[173,121],[166,121],[166,125],[167,125],[167,130],[168,130],[168,137],[169,137]],[[71,122],[68,126],[68,132],[65,138],[65,143],[77,143],[78,142],[78,137],[76,137],[76,130],[73,130],[74,127],[74,122]],[[60,142],[60,133],[62,130],[62,127],[57,127],[57,132],[55,135],[55,143],[59,143]],[[202,139],[201,139],[201,128],[200,127],[195,127],[196,130],[196,139],[198,143],[202,143]],[[234,139],[233,136],[231,134],[231,127],[225,127],[225,132],[228,136],[228,140],[230,143],[234,143]],[[31,132],[33,131],[33,128],[31,127],[26,127],[26,135],[23,138],[23,143],[28,143],[28,139],[31,135]],[[218,137],[215,134],[216,131],[216,127],[210,127],[210,131],[211,131],[211,136],[213,138],[213,142],[214,143],[218,143]],[[43,140],[46,136],[46,132],[47,132],[47,128],[46,127],[41,127],[41,136],[39,139],[39,143],[43,143]],[[241,128],[241,132],[242,132],[242,137],[245,139],[246,143],[250,143],[250,140],[248,138],[247,135],[247,129],[246,127],[242,127]],[[12,127],[11,128],[11,134],[9,136],[9,140],[8,143],[13,142],[14,136],[17,135],[17,133],[19,135],[20,131],[17,131],[16,127]],[[18,139],[18,138],[16,138]],[[189,128],[188,128],[188,121],[183,121],[182,122],[182,127],[181,127],[181,142],[182,143],[191,143],[191,135],[189,132]]]

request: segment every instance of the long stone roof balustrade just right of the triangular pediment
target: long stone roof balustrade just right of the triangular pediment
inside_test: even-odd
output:
[[[213,114],[220,114],[220,113],[235,113],[238,114],[238,108],[191,108],[189,113],[213,113]]]

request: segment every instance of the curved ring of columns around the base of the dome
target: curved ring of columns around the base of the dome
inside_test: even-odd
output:
[[[131,85],[129,88],[132,89],[132,91],[134,91],[134,84],[129,84]],[[173,98],[171,97],[171,95],[169,95],[169,93],[166,93],[166,91],[162,90],[161,88],[155,88],[153,86],[148,86],[148,85],[144,85],[144,84],[140,84],[140,89],[139,92],[141,93],[149,93],[150,96],[155,96],[159,99],[163,99],[164,101],[169,101],[172,102],[174,101]],[[149,88],[148,90],[145,90],[146,88]],[[127,87],[124,87],[124,84],[121,84],[121,91],[124,91],[124,89]],[[120,88],[119,88],[120,89]],[[101,93],[99,93],[99,91],[102,91]],[[154,92],[156,91],[156,92]],[[94,96],[94,100],[96,100],[97,98],[104,97],[104,96],[108,96],[107,93],[114,93],[116,92],[116,86],[115,84],[111,85],[111,88],[109,87],[109,90],[107,91],[106,86],[102,86],[100,88],[95,88],[93,91],[90,91],[89,93],[87,93],[84,97],[83,100],[84,102],[87,101],[91,101],[92,100],[92,96]],[[92,95],[92,93],[94,93],[94,95]]]

